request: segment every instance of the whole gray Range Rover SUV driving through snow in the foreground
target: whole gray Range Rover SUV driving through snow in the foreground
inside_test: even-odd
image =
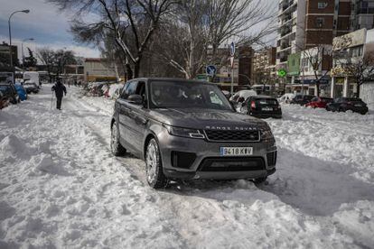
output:
[[[111,121],[111,151],[145,160],[154,189],[169,180],[266,180],[276,142],[265,121],[235,112],[217,85],[173,78],[126,82]]]

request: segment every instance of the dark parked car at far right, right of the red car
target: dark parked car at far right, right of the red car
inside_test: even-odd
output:
[[[352,112],[365,115],[366,113],[368,113],[369,108],[366,103],[363,102],[360,98],[337,97],[333,100],[332,103],[327,104],[326,110],[332,112],[346,112],[348,110],[351,110]]]

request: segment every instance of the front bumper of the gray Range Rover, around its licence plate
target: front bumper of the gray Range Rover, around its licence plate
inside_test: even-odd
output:
[[[164,130],[158,134],[164,174],[171,179],[210,179],[234,180],[257,179],[276,171],[276,146],[274,143],[213,143],[203,139],[184,138],[168,134]],[[220,156],[220,147],[253,147],[253,154],[246,157]],[[182,167],[175,163],[174,155],[182,152],[192,155],[188,162],[182,161]],[[187,157],[186,157],[187,159]],[[231,160],[232,159],[232,160]],[[210,169],[206,161],[216,163],[224,161],[225,167]],[[235,161],[239,161],[237,167]],[[255,163],[256,162],[256,163]]]

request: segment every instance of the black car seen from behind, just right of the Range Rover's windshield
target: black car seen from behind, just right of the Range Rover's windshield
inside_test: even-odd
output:
[[[282,117],[282,108],[275,97],[251,96],[246,99],[240,113],[256,117]]]

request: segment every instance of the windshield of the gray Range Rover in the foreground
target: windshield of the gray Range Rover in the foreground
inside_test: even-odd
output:
[[[207,108],[232,110],[220,88],[210,84],[183,81],[153,81],[151,107]]]

